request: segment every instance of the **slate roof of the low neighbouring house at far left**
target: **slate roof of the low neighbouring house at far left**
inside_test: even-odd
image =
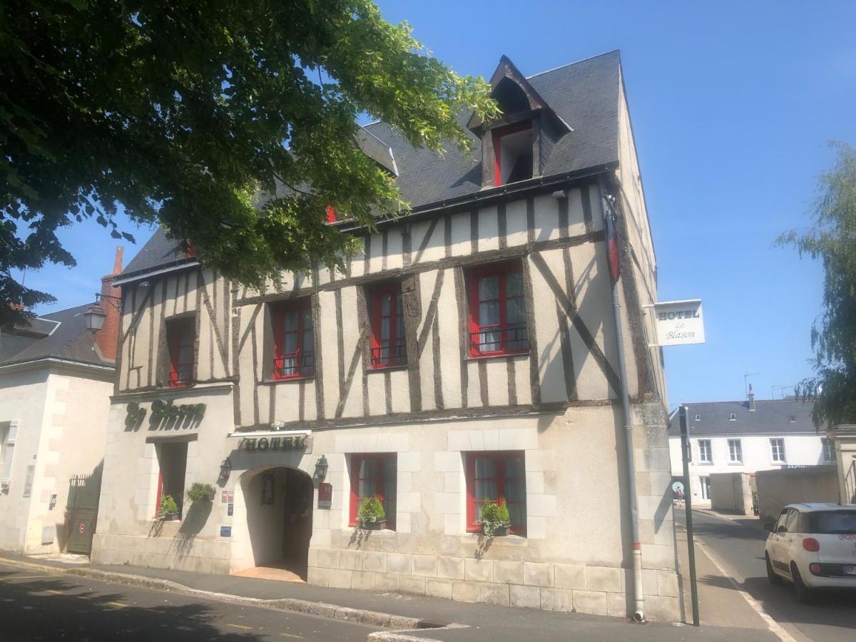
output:
[[[102,360],[98,353],[92,349],[95,345],[95,336],[92,332],[86,330],[86,322],[83,318],[83,313],[92,304],[85,306],[69,307],[67,310],[59,312],[51,312],[44,314],[36,321],[41,321],[41,325],[56,326],[56,329],[51,334],[41,336],[27,337],[27,341],[23,339],[27,336],[27,330],[23,329],[22,334],[7,334],[3,331],[0,334],[0,346],[9,345],[22,347],[17,351],[0,351],[0,366],[9,364],[21,363],[25,361],[33,361],[44,359],[45,357],[59,357],[80,361],[82,363],[97,364],[98,366],[113,366],[111,361]],[[45,322],[59,322],[47,324]]]

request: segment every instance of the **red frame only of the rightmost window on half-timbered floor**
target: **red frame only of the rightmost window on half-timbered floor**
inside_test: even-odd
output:
[[[467,289],[469,293],[470,306],[470,356],[471,357],[490,357],[502,354],[525,354],[529,352],[529,337],[526,320],[522,324],[515,324],[514,327],[508,325],[508,294],[507,283],[508,275],[523,273],[523,267],[519,262],[502,263],[499,265],[486,265],[481,268],[467,270]],[[496,276],[499,279],[499,288],[497,300],[499,301],[499,323],[498,324],[481,324],[479,321],[479,279],[486,276]],[[526,314],[526,294],[521,292],[519,298],[522,301],[524,315]],[[479,336],[486,331],[499,332],[499,349],[483,350],[479,348]],[[514,333],[510,337],[509,334]],[[496,342],[490,342],[496,344]],[[509,346],[509,344],[517,344]]]

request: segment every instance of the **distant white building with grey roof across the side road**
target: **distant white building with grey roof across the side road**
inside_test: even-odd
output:
[[[693,504],[710,506],[710,475],[832,463],[829,440],[811,423],[811,404],[794,399],[687,404]],[[683,475],[681,424],[669,417],[672,475]]]

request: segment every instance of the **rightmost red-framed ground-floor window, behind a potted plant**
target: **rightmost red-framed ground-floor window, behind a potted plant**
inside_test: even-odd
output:
[[[484,502],[508,504],[509,532],[526,535],[526,461],[523,451],[467,453],[467,531],[480,532]]]

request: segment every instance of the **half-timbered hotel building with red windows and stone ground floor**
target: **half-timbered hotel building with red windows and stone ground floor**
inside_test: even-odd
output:
[[[651,229],[617,52],[490,80],[472,158],[383,122],[412,209],[345,270],[246,288],[158,231],[128,265],[94,559],[612,615],[633,612],[604,212],[616,214],[642,590],[677,619]],[[323,215],[323,214],[322,214]],[[189,502],[193,483],[212,502]],[[180,519],[158,520],[169,494]],[[360,527],[379,496],[383,528]],[[505,500],[508,535],[480,509]]]

